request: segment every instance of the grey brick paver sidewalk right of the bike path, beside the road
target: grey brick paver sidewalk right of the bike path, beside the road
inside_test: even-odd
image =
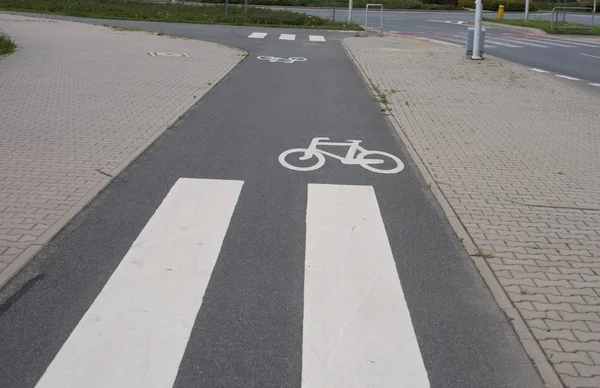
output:
[[[345,43],[565,385],[600,386],[600,99],[456,48]]]

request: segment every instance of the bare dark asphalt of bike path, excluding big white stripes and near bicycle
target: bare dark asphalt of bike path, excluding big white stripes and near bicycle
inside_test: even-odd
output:
[[[108,23],[225,43],[251,55],[3,290],[0,303],[10,303],[0,310],[0,387],[35,386],[181,177],[245,184],[175,387],[300,387],[308,183],[374,187],[432,387],[542,386],[346,55],[339,38],[348,34],[321,32],[327,42],[308,43],[246,38],[253,31],[307,30]],[[307,61],[269,63],[258,55]],[[383,175],[328,160],[299,173],[278,163],[282,151],[320,136],[363,140],[406,168]]]

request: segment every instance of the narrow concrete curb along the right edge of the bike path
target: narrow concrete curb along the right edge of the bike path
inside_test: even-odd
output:
[[[369,86],[371,86],[371,89],[372,89],[373,85],[371,84],[369,77],[367,76],[364,69],[360,66],[360,64],[358,63],[358,61],[356,60],[356,58],[354,57],[354,55],[352,54],[352,52],[350,51],[350,49],[348,48],[346,43],[344,42],[345,39],[346,38],[342,39],[342,44],[344,45],[344,49],[346,50],[346,53],[352,59],[352,62],[354,63],[354,65],[356,66],[358,71],[363,76],[363,79],[365,80],[365,82]],[[383,104],[380,104],[380,105],[382,106],[382,108],[386,108],[386,106],[384,106]],[[390,111],[390,117],[392,118],[390,120],[391,124],[396,129],[396,133],[398,134],[398,136],[404,143],[408,153],[410,154],[411,158],[415,162],[415,165],[419,169],[419,172],[423,175],[423,178],[425,179],[425,181],[429,182],[431,184],[431,192],[433,193],[436,200],[442,207],[444,213],[446,214],[446,217],[448,217],[450,226],[452,226],[452,228],[454,229],[454,232],[456,233],[456,235],[459,238],[463,238],[462,243],[463,243],[463,246],[465,247],[465,250],[467,251],[467,254],[473,260],[475,267],[477,268],[477,270],[479,271],[479,274],[485,281],[485,284],[487,285],[488,289],[490,290],[490,293],[492,294],[494,300],[496,301],[496,303],[498,303],[498,307],[500,307],[500,309],[506,315],[508,321],[512,324],[513,329],[515,330],[515,333],[517,334],[519,340],[521,341],[521,344],[523,345],[523,348],[527,352],[527,355],[533,362],[534,366],[537,368],[538,373],[540,374],[540,377],[542,378],[546,388],[562,388],[562,387],[564,387],[563,383],[561,382],[560,378],[558,377],[558,374],[556,373],[556,371],[554,370],[554,368],[548,361],[543,349],[540,347],[539,343],[537,342],[537,340],[535,339],[535,337],[529,330],[529,327],[523,320],[523,317],[521,317],[521,314],[519,313],[519,311],[511,303],[510,299],[508,298],[508,295],[506,294],[506,292],[500,285],[500,282],[494,275],[494,272],[490,268],[490,265],[488,264],[488,262],[484,258],[476,256],[476,254],[478,252],[478,248],[475,245],[475,243],[473,242],[473,239],[466,231],[464,225],[460,221],[460,218],[458,217],[458,215],[452,208],[452,205],[450,205],[450,203],[448,202],[442,189],[438,186],[437,182],[435,181],[435,179],[429,172],[427,166],[425,165],[425,163],[423,162],[423,160],[417,153],[414,145],[408,139],[408,137],[406,136],[406,133],[402,129],[402,126],[399,124],[398,120],[396,119],[394,114],[391,113],[391,111]]]

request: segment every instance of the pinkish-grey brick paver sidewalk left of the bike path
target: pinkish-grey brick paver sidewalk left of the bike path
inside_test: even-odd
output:
[[[0,14],[0,286],[244,53]],[[151,57],[149,51],[190,58]],[[21,255],[21,256],[20,256]]]

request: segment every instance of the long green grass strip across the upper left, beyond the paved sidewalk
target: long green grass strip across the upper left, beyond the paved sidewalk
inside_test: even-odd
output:
[[[0,9],[40,12],[98,19],[143,20],[170,23],[262,25],[337,30],[360,30],[356,23],[338,22],[296,13],[264,8],[229,7],[225,19],[222,5],[198,6],[181,4],[152,4],[123,0],[0,0]]]

